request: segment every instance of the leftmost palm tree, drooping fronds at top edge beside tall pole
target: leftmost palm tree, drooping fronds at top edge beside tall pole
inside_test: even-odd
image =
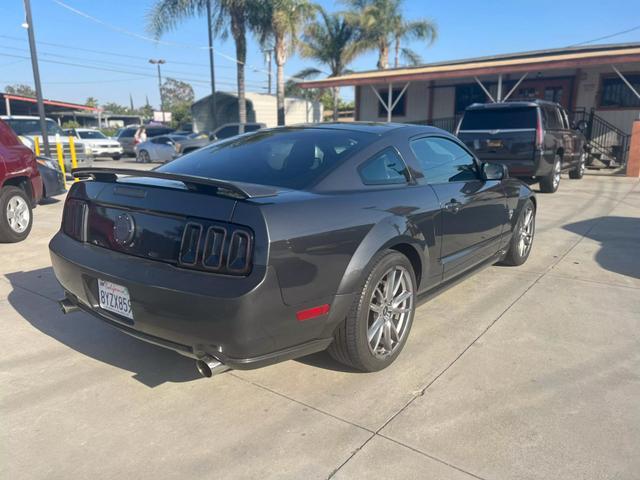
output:
[[[157,0],[147,14],[147,29],[156,38],[176,27],[178,22],[196,15],[212,15],[213,35],[231,36],[236,47],[236,78],[238,83],[238,119],[247,122],[244,67],[247,59],[246,25],[248,12],[257,0]],[[211,41],[209,48],[212,48]],[[213,58],[210,57],[213,70]],[[211,92],[214,94],[215,92]],[[215,102],[215,95],[213,97]],[[214,119],[217,123],[217,118]]]

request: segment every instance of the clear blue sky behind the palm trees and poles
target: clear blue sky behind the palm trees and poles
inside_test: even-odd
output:
[[[153,0],[61,0],[102,22],[122,30],[146,35],[145,13]],[[319,0],[328,10],[343,8],[340,2]],[[27,32],[22,0],[0,0],[0,90],[6,84],[33,84],[28,58]],[[640,25],[637,0],[511,2],[458,0],[428,2],[405,0],[407,18],[430,18],[439,27],[438,41],[427,47],[413,43],[425,62],[492,55],[507,52],[558,48],[609,35]],[[189,79],[196,98],[206,95],[208,53],[206,20],[194,18],[162,38],[172,45],[156,44],[114,31],[63,8],[55,0],[32,0],[41,78],[46,98],[84,103],[87,97],[101,103],[129,103],[129,94],[139,106],[148,96],[157,105],[155,70],[148,58],[165,58],[164,76]],[[46,42],[46,43],[45,43]],[[597,43],[640,42],[640,29]],[[59,45],[48,45],[54,43]],[[178,46],[176,44],[184,45]],[[218,88],[235,89],[235,66],[223,55],[234,57],[231,40],[216,41]],[[100,50],[111,55],[86,50]],[[266,91],[264,56],[254,39],[248,48],[247,88]],[[136,57],[136,58],[132,58]],[[137,58],[139,57],[139,58]],[[82,64],[88,68],[48,63],[45,60]],[[376,55],[358,58],[353,70],[375,68]],[[287,75],[316,66],[311,60],[292,57],[285,66]],[[100,67],[106,70],[98,70]],[[275,70],[275,69],[274,69]],[[275,83],[275,82],[274,82]],[[352,98],[352,89],[343,89]]]

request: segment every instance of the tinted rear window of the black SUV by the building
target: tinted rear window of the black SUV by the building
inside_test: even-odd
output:
[[[536,128],[537,122],[535,107],[468,110],[464,114],[460,130]]]

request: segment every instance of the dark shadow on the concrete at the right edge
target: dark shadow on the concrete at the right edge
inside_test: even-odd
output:
[[[595,260],[602,268],[640,279],[640,218],[599,217],[564,228],[600,243]]]

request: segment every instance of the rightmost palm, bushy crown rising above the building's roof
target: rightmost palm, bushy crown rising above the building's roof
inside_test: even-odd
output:
[[[435,22],[420,19],[406,21],[402,17],[403,0],[344,0],[351,7],[349,14],[357,21],[363,41],[369,49],[378,51],[378,69],[389,68],[389,52],[395,43],[396,66],[400,54],[410,63],[419,63],[420,56],[410,49],[401,49],[402,40],[426,40],[433,43],[437,36]]]

